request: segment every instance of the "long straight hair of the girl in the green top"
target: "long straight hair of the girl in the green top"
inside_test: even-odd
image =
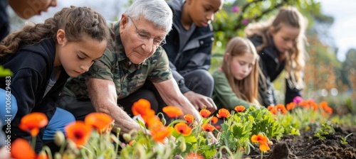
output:
[[[244,99],[247,102],[258,104],[258,74],[260,67],[258,66],[259,56],[255,46],[247,38],[235,37],[229,40],[226,45],[225,54],[229,53],[230,57],[224,56],[224,62],[221,69],[224,71],[226,78],[231,86],[231,89],[236,94],[236,97]],[[241,56],[246,53],[251,53],[255,57],[255,65],[251,73],[244,79],[238,80],[234,78],[231,72],[231,61],[234,56]]]

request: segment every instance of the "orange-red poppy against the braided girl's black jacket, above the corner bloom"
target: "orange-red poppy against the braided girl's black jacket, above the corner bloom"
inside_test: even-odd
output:
[[[31,136],[37,136],[40,128],[48,124],[47,116],[41,112],[33,112],[23,116],[19,128],[23,131],[30,131]]]

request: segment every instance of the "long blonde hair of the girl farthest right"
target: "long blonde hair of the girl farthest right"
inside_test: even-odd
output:
[[[257,52],[263,50],[271,45],[271,27],[275,28],[274,31],[281,30],[282,24],[291,26],[293,28],[300,28],[300,33],[295,45],[287,54],[286,62],[286,78],[291,79],[290,82],[294,87],[303,87],[303,70],[305,67],[305,18],[301,13],[292,6],[286,6],[279,9],[276,18],[272,22],[251,23],[246,27],[245,33],[247,37],[259,35],[262,37],[262,45],[256,46]]]

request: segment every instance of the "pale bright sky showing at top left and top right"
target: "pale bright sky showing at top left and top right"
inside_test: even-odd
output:
[[[227,0],[229,1],[229,0]],[[355,0],[316,0],[322,5],[322,12],[333,16],[335,22],[330,28],[330,36],[334,38],[335,44],[339,48],[337,58],[345,60],[345,54],[350,48],[356,48],[356,1]],[[61,10],[64,6],[90,6],[95,11],[103,14],[108,21],[115,21],[114,17],[122,14],[127,6],[127,0],[58,0],[56,8],[49,9],[48,13],[42,13],[41,16],[35,16],[30,19],[35,23],[42,22],[43,18],[53,16],[53,13]]]

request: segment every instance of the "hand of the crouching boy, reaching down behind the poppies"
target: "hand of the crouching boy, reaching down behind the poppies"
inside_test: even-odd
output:
[[[204,106],[206,106],[207,110],[209,110],[211,113],[214,113],[214,111],[217,109],[213,99],[210,97],[206,97],[192,91],[184,93],[184,96],[187,97],[189,102],[191,102],[197,110],[204,109]]]

